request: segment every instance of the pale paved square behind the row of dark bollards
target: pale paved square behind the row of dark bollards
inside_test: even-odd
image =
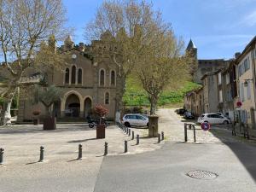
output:
[[[135,131],[135,136],[137,131]],[[141,135],[142,137],[142,135]],[[128,141],[128,153],[138,154],[160,148],[157,138],[131,140],[116,125],[108,126],[105,139],[96,139],[96,128],[83,124],[57,125],[55,131],[43,131],[42,125],[14,125],[0,129],[0,147],[4,148],[6,165],[25,165],[39,160],[39,148],[44,146],[46,162],[76,160],[79,144],[83,145],[83,157],[99,158],[108,143],[108,155],[124,154],[124,143]]]

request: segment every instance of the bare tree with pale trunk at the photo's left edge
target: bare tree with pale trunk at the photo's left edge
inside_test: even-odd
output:
[[[9,79],[0,92],[8,103],[5,113],[27,68],[44,70],[65,63],[50,41],[44,45],[49,38],[55,44],[66,36],[65,12],[61,0],[0,0],[0,70]]]

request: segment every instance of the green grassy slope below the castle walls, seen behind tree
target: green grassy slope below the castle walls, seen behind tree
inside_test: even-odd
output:
[[[184,94],[189,90],[194,90],[199,87],[201,87],[200,84],[186,82],[177,90],[166,90],[161,94],[158,105],[160,107],[181,107],[183,106]],[[127,79],[123,102],[125,106],[150,106],[148,94],[143,90],[138,79]]]

